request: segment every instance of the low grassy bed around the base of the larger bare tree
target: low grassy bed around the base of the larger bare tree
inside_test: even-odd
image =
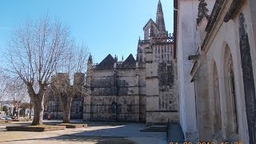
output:
[[[52,125],[42,125],[42,126],[6,126],[6,130],[10,131],[50,131],[50,130],[64,130],[66,126],[52,126]]]

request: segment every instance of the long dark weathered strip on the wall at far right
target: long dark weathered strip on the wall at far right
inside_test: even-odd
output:
[[[242,78],[246,100],[246,116],[250,143],[256,143],[256,98],[250,43],[246,33],[246,19],[239,15],[239,43],[242,63]]]

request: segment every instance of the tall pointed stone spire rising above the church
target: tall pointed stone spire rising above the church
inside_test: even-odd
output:
[[[160,0],[158,1],[156,24],[158,26],[159,31],[164,31],[164,32],[166,31],[165,19],[163,17],[163,13],[162,13],[162,3]]]

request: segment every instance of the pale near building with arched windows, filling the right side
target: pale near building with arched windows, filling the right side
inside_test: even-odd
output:
[[[256,1],[176,0],[186,141],[256,143]]]

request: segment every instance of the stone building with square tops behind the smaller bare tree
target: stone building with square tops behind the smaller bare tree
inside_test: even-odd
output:
[[[58,73],[51,78],[51,83],[57,82],[58,84],[62,85],[62,83],[66,83],[66,85],[71,86],[70,76],[69,74],[65,73]],[[74,82],[73,87],[78,88],[78,94],[74,94],[71,102],[70,108],[70,118],[72,119],[82,119],[83,114],[83,98],[84,98],[84,82],[85,82],[85,74],[82,73],[75,73],[74,74]],[[81,87],[80,87],[81,86]],[[62,102],[60,102],[59,94],[54,93],[52,89],[52,85],[48,87],[48,90],[45,94],[44,99],[44,112],[43,118],[50,118],[53,119],[62,119],[63,118],[63,108]]]

